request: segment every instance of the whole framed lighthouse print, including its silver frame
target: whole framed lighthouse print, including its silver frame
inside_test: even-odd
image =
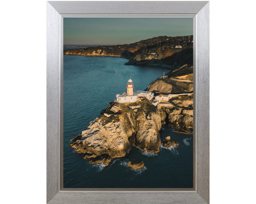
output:
[[[47,2],[47,203],[209,203],[209,2]]]

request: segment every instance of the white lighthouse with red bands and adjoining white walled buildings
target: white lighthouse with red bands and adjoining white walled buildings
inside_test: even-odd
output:
[[[127,84],[127,92],[124,92],[122,95],[117,94],[117,102],[118,103],[127,103],[127,102],[135,102],[140,97],[148,98],[148,100],[151,100],[154,96],[154,93],[149,91],[135,91],[133,92],[134,84],[132,82],[132,79],[128,80]]]

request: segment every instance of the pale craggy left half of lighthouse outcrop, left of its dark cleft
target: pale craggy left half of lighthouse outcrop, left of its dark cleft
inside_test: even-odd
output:
[[[103,123],[102,118],[108,121]],[[136,132],[134,112],[124,113],[116,121],[109,120],[111,117],[104,115],[93,120],[88,128],[82,131],[81,138],[74,141],[71,146],[78,153],[97,156],[107,154],[111,158],[124,157],[131,149],[128,138]]]

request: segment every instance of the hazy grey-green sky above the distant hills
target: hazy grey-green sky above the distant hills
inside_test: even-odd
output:
[[[64,17],[63,22],[64,45],[122,45],[162,35],[193,35],[192,17]]]

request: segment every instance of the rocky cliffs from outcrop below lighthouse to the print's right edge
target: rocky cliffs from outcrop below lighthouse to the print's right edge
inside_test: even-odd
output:
[[[145,98],[124,103],[116,113],[110,108],[103,111],[86,130],[70,140],[70,146],[85,154],[84,159],[89,159],[91,164],[103,163],[105,166],[113,158],[127,156],[132,146],[156,154],[161,146],[159,131],[166,122],[176,131],[191,134],[193,111],[154,106]],[[174,145],[174,141],[165,143]]]

